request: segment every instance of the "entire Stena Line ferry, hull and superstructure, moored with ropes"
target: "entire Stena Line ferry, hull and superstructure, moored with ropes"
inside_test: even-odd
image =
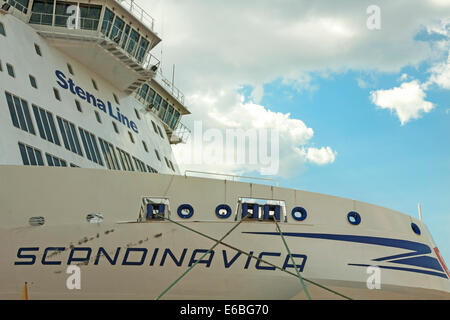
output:
[[[0,1],[1,299],[450,298],[420,219],[181,173],[161,40],[134,1]]]

